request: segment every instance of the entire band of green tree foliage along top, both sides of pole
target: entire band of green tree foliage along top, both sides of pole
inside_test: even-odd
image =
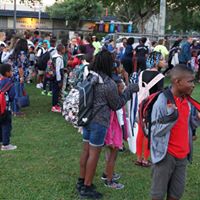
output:
[[[64,0],[55,3],[47,11],[50,16],[65,17],[76,26],[81,18],[100,17],[103,9],[108,8],[109,15],[116,16],[120,21],[132,21],[143,31],[149,18],[159,13],[159,7],[160,0]],[[174,23],[174,27],[180,25],[189,29],[199,26],[198,11],[199,0],[167,0],[167,19]]]

